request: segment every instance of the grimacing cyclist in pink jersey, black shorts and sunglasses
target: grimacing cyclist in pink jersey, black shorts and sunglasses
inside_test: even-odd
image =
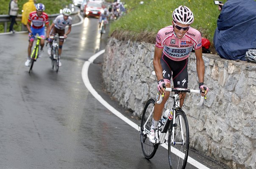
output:
[[[195,48],[199,88],[202,90],[201,95],[206,95],[208,92],[208,87],[203,85],[204,61],[201,35],[198,30],[190,27],[193,21],[194,16],[191,10],[181,5],[173,11],[172,25],[159,30],[156,36],[153,65],[158,81],[157,89],[165,95],[161,104],[155,104],[149,136],[152,143],[159,143],[158,124],[164,104],[170,95],[170,92],[164,91],[164,87],[171,87],[170,79],[173,77],[174,88],[187,88],[188,57],[193,47]],[[184,103],[185,93],[183,96],[180,96],[180,106]]]

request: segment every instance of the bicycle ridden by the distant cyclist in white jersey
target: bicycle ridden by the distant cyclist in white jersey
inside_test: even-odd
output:
[[[54,35],[54,36],[50,36],[50,38],[53,39],[53,43],[51,46],[51,55],[50,55],[50,59],[52,62],[52,68],[54,69],[54,67],[55,67],[56,72],[58,72],[59,61],[60,61],[60,55],[58,53],[58,39],[64,39],[64,36]],[[46,44],[46,46],[47,46],[47,44]]]

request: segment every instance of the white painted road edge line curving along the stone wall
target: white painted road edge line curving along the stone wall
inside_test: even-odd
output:
[[[89,69],[89,65],[91,63],[93,63],[93,61],[100,56],[101,54],[103,54],[105,52],[105,50],[101,50],[100,52],[97,52],[95,55],[93,55],[92,57],[89,58],[88,61],[86,61],[83,64],[83,68],[82,68],[82,78],[83,78],[83,83],[86,86],[86,88],[89,90],[90,93],[92,93],[92,95],[101,103],[103,104],[103,106],[105,106],[107,109],[109,109],[109,111],[111,111],[113,114],[115,114],[117,117],[119,117],[120,119],[122,119],[123,121],[125,121],[125,123],[128,123],[129,125],[131,125],[133,128],[135,128],[137,131],[139,131],[138,125],[134,122],[132,122],[131,120],[129,120],[127,117],[125,117],[124,115],[122,115],[122,113],[118,112],[114,107],[112,107],[110,104],[108,104],[97,92],[96,90],[92,87],[89,78],[88,78],[88,69]],[[161,144],[162,147],[166,148],[168,150],[168,147],[166,144]],[[197,167],[198,169],[209,169],[208,167],[204,166],[203,164],[200,164],[198,161],[196,161],[195,159],[188,157],[187,162],[189,164],[192,164],[193,166]]]

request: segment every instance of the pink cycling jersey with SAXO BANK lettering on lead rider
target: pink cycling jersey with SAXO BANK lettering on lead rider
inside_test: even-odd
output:
[[[173,26],[162,28],[156,36],[156,46],[164,48],[164,55],[175,61],[188,58],[193,46],[195,49],[200,49],[201,41],[200,32],[192,27],[189,27],[189,30],[181,39],[176,37]]]

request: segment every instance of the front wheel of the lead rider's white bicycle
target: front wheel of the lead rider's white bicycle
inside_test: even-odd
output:
[[[183,110],[178,109],[176,110],[175,114],[176,126],[174,127],[174,143],[171,144],[171,137],[173,133],[173,127],[171,126],[168,136],[169,164],[171,169],[185,169],[187,158],[189,155],[189,124],[186,118],[186,114],[183,112]],[[171,123],[171,125],[173,125],[173,122]],[[182,142],[181,126],[183,129],[184,144],[178,144]]]

